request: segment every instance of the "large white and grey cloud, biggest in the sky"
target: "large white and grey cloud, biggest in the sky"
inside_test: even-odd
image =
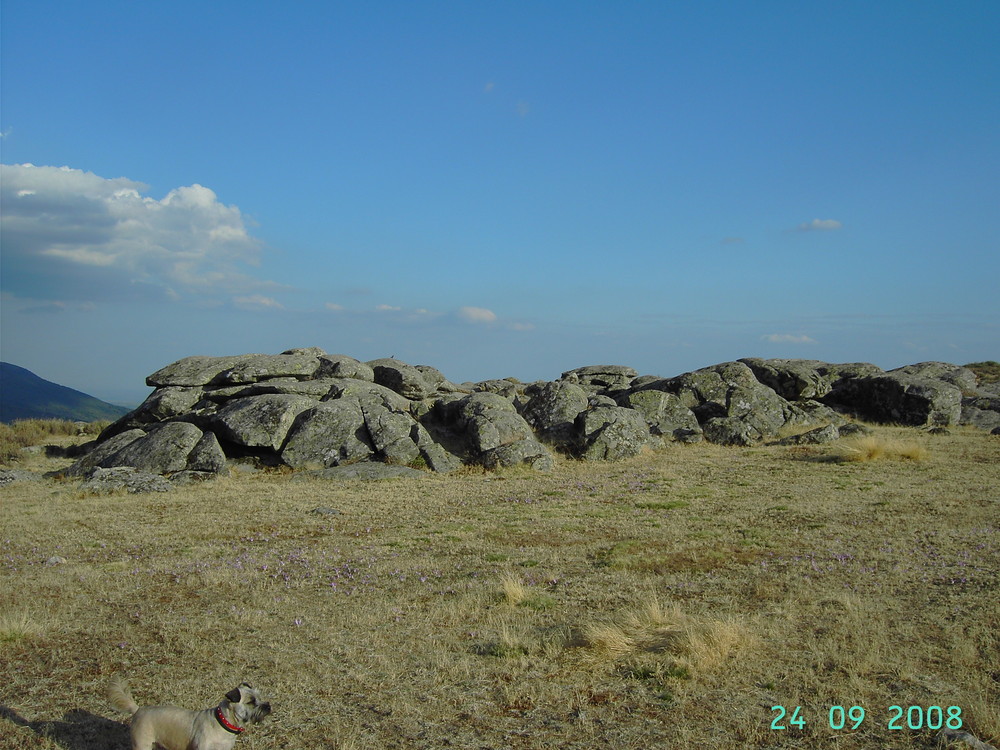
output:
[[[274,286],[244,273],[258,263],[260,242],[239,208],[207,187],[175,188],[156,200],[125,177],[31,164],[0,170],[4,254],[17,269],[4,287],[15,294],[37,293],[40,279],[61,285],[50,294],[92,299],[135,294],[135,284],[165,298]]]

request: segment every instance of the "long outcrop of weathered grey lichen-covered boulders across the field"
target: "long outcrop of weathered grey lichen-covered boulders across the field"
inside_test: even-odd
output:
[[[789,426],[797,436],[785,444],[829,442],[859,428],[845,415],[1000,427],[1000,393],[942,362],[886,372],[867,363],[747,358],[671,378],[596,365],[552,382],[456,385],[427,365],[360,362],[313,347],[187,357],[146,382],[153,393],[63,475],[114,484],[138,473],[176,483],[215,476],[234,460],[329,478],[466,464],[546,470],[556,452],[614,461],[666,442],[777,441]],[[346,468],[362,464],[410,471]]]

